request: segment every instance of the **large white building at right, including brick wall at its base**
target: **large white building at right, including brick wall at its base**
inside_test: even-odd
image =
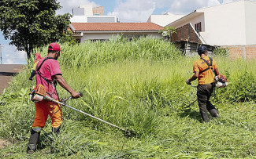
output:
[[[231,56],[256,58],[256,2],[239,0],[196,9],[169,23],[172,42],[197,42],[230,49]]]

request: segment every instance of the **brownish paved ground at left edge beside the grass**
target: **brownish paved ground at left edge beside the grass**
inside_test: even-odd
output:
[[[22,69],[23,64],[0,64],[0,94],[3,89],[6,89],[13,76],[18,74]]]

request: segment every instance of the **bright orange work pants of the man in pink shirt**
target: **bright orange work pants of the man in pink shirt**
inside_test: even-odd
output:
[[[43,128],[44,125],[46,125],[48,115],[50,115],[51,126],[53,128],[58,128],[62,122],[60,105],[58,103],[52,103],[48,100],[43,100],[39,103],[35,103],[35,119],[32,127]]]

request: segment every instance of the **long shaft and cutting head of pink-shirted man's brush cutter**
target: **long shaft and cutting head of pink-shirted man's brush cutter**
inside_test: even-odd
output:
[[[82,92],[80,92],[80,96],[83,96]],[[102,120],[102,119],[100,119],[98,117],[95,117],[95,116],[91,115],[91,114],[87,114],[87,113],[83,112],[82,110],[78,110],[78,109],[76,109],[74,107],[70,107],[69,105],[66,104],[66,101],[69,100],[69,99],[72,99],[72,96],[69,96],[69,98],[66,98],[66,99],[61,99],[61,102],[59,102],[58,100],[55,100],[53,98],[50,98],[50,96],[44,96],[43,99],[50,100],[51,102],[61,104],[61,106],[69,107],[72,110],[76,110],[76,111],[78,111],[78,112],[80,112],[82,114],[85,114],[85,115],[89,116],[89,117],[93,117],[93,118],[97,119],[98,121],[102,121],[102,122],[106,123],[107,125],[111,125],[114,128],[118,128],[122,132],[124,132],[124,136],[126,136],[126,137],[136,136],[135,132],[132,132],[131,130],[128,130],[128,129],[125,130],[124,128],[121,128],[121,127],[119,127],[117,125],[113,125],[113,124],[109,123],[108,121],[104,121],[104,120]]]

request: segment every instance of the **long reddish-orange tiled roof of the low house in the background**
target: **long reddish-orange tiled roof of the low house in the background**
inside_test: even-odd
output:
[[[71,23],[73,32],[81,31],[161,31],[165,29],[155,23]]]

